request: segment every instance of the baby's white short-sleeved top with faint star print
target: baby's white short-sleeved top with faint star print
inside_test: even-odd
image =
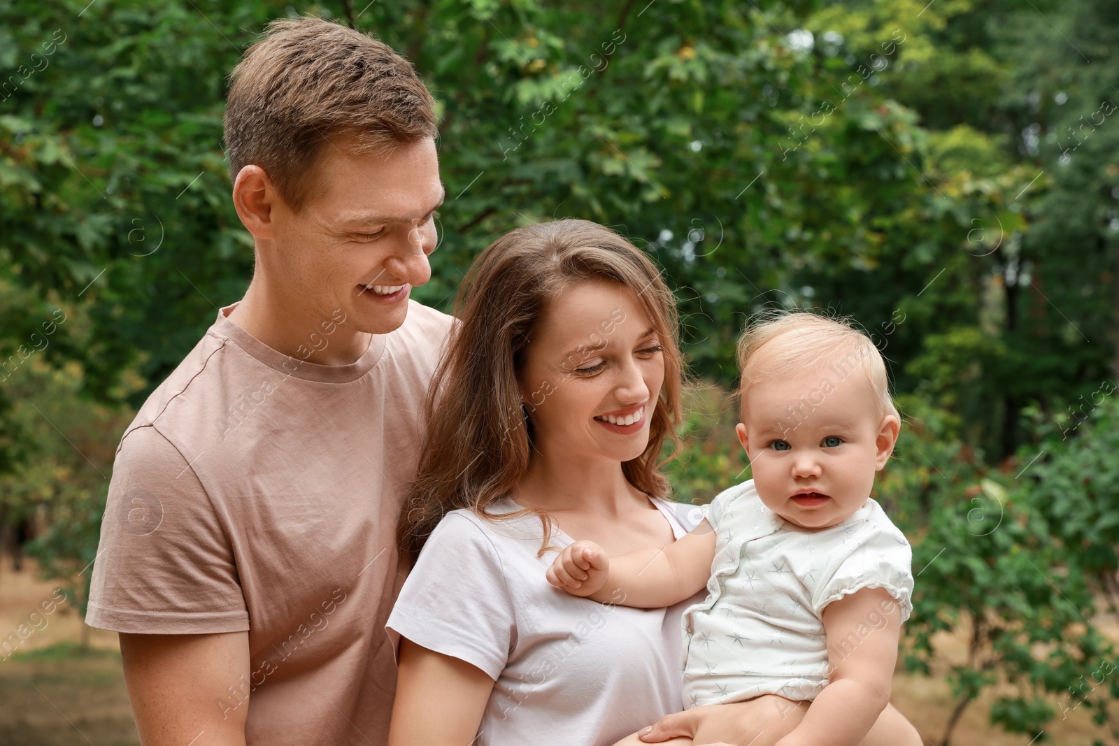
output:
[[[806,531],[767,508],[750,480],[704,506],[704,517],[715,559],[707,598],[684,613],[687,708],[760,695],[815,699],[828,682],[824,608],[845,595],[885,588],[909,618],[910,545],[869,498],[847,520]],[[872,613],[847,644],[884,624]]]

